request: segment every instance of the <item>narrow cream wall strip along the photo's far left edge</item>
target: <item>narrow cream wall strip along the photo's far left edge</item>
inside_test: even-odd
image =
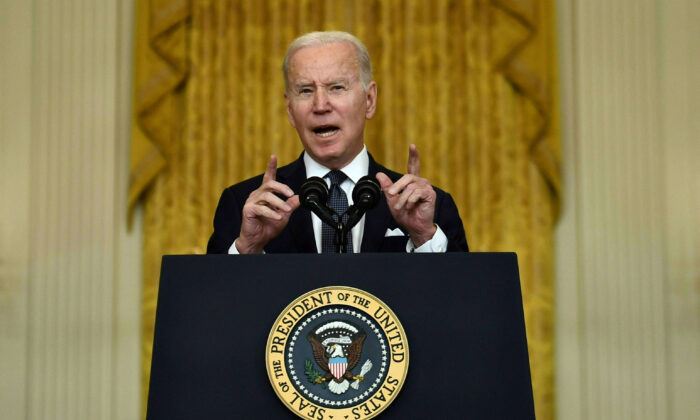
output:
[[[32,9],[0,3],[0,417],[24,418]]]

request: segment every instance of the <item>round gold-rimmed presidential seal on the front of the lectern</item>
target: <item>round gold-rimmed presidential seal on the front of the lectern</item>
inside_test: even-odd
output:
[[[396,315],[345,286],[312,290],[287,306],[267,339],[277,396],[305,419],[370,419],[396,398],[408,343]]]

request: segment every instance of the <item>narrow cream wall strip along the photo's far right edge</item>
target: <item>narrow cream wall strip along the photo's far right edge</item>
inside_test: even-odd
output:
[[[700,414],[700,3],[665,3],[659,60],[670,413]]]

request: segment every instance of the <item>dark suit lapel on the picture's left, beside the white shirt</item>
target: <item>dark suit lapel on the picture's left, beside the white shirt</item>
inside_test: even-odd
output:
[[[291,164],[280,168],[277,172],[277,180],[289,186],[295,193],[299,193],[301,184],[306,180],[303,154]],[[301,206],[296,209],[289,218],[286,230],[291,235],[291,238],[287,239],[291,242],[288,249],[294,249],[296,252],[317,252],[309,210]]]

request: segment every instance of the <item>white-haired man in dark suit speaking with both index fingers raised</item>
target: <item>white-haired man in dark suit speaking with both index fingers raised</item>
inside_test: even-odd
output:
[[[351,205],[352,189],[364,175],[376,177],[383,194],[352,229],[350,252],[468,251],[454,201],[420,177],[414,145],[403,176],[367,153],[364,128],[376,110],[377,84],[357,38],[303,35],[289,46],[283,71],[287,115],[304,153],[279,170],[273,155],[263,175],[224,190],[208,253],[333,252],[330,228],[300,208],[296,193],[308,177],[319,176],[332,198]]]

